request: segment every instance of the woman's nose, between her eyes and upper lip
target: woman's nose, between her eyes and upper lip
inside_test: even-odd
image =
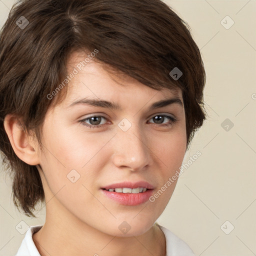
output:
[[[148,137],[138,126],[132,124],[126,131],[117,129],[112,141],[114,148],[112,160],[115,166],[139,171],[151,164],[152,151],[147,145]]]

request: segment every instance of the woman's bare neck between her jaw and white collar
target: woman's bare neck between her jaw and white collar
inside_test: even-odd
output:
[[[52,214],[57,216],[55,214]],[[165,256],[165,237],[157,224],[142,235],[120,237],[103,233],[79,220],[69,223],[46,215],[45,224],[33,234],[41,256]]]

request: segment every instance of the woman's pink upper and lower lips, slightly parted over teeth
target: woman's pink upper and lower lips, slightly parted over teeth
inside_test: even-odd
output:
[[[117,193],[117,192],[110,192],[107,191],[107,189],[110,188],[118,188],[118,187],[129,187],[129,188],[137,188],[137,187],[145,187],[148,190],[141,193]],[[114,183],[111,185],[107,185],[104,187],[101,187],[102,193],[107,196],[108,198],[116,201],[119,204],[122,205],[139,205],[142,203],[145,203],[148,201],[149,197],[153,193],[153,185],[149,184],[146,181],[138,181],[138,182],[120,182],[120,183]]]

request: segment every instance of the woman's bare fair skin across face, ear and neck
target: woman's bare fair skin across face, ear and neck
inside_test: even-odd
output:
[[[71,55],[68,70],[86,56]],[[85,104],[68,107],[84,97],[119,103],[122,110]],[[46,201],[43,227],[33,240],[44,255],[165,255],[165,237],[154,224],[167,205],[176,185],[173,182],[154,202],[127,206],[106,197],[100,187],[121,181],[145,180],[154,193],[182,164],[186,151],[185,112],[174,103],[148,110],[159,100],[179,97],[179,89],[154,90],[137,80],[109,73],[91,60],[68,83],[64,100],[48,109],[42,126],[43,150],[32,135],[18,126],[13,115],[4,120],[5,130],[17,156],[37,165]],[[183,102],[183,101],[182,101]],[[167,117],[157,123],[156,115],[177,119],[170,126]],[[89,128],[80,120],[102,115],[101,127]],[[123,131],[118,123],[126,118],[131,127]],[[91,119],[87,124],[93,124]],[[67,178],[75,169],[76,182]],[[126,221],[130,230],[118,226]]]

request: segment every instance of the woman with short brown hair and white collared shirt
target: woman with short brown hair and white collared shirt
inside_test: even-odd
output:
[[[160,0],[22,0],[0,39],[0,149],[21,255],[194,255],[155,221],[205,119],[188,26]]]

